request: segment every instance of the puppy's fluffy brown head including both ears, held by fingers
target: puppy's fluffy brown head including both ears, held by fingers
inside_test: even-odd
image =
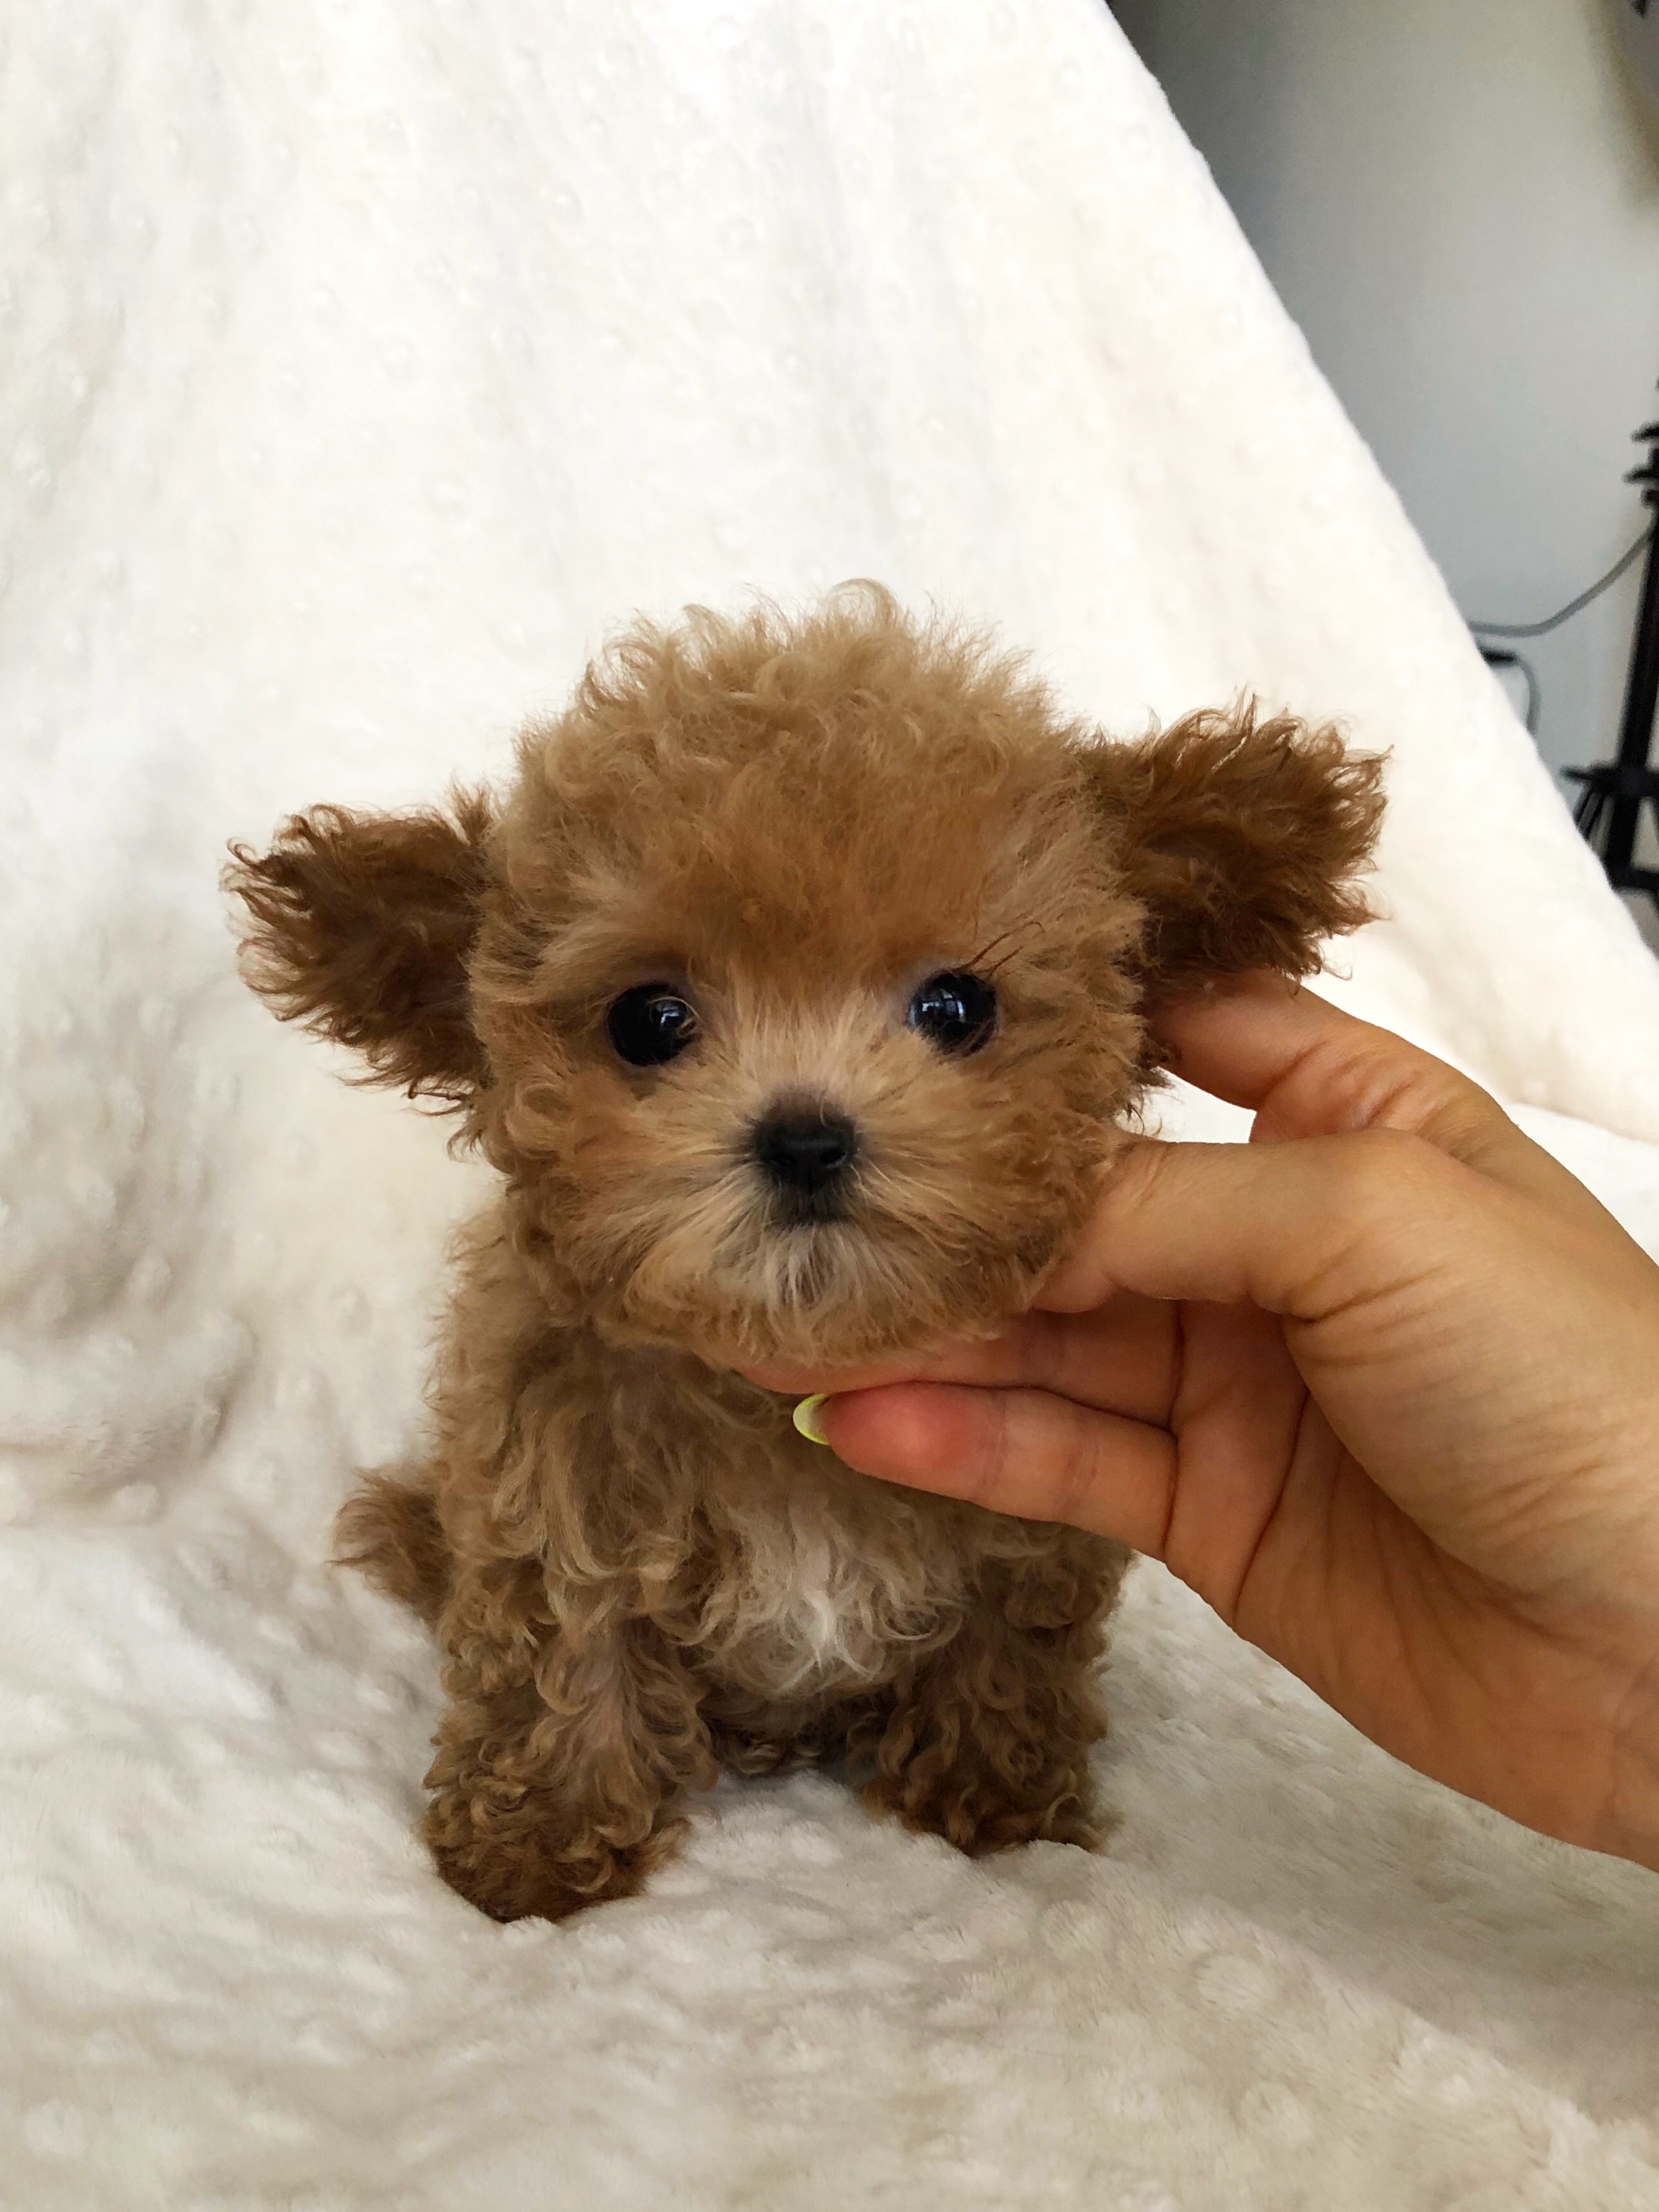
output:
[[[237,849],[246,969],[467,1115],[551,1307],[845,1365],[1020,1310],[1152,1073],[1144,1009],[1365,918],[1378,768],[1130,745],[883,593],[639,626],[500,810]]]

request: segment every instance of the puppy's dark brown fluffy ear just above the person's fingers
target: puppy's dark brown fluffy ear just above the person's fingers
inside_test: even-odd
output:
[[[1383,761],[1290,714],[1188,714],[1084,750],[1095,805],[1146,907],[1152,998],[1214,975],[1312,975],[1318,947],[1369,920],[1358,889],[1383,821]]]

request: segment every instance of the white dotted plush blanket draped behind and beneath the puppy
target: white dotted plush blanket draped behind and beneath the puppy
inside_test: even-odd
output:
[[[723,1787],[555,1931],[429,1874],[431,1655],[323,1566],[478,1170],[246,1000],[219,852],[498,761],[639,604],[874,573],[1119,728],[1343,714],[1394,748],[1354,1002],[1659,1245],[1659,971],[1106,11],[4,35],[0,2205],[1659,2203],[1652,1878],[1152,1568],[1108,1856]]]

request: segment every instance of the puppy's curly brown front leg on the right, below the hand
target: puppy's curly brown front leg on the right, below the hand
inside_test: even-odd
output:
[[[1106,1734],[1095,1670],[1119,1575],[1117,1546],[989,1566],[951,1641],[896,1681],[865,1805],[975,1858],[1097,1843],[1088,1750]]]

